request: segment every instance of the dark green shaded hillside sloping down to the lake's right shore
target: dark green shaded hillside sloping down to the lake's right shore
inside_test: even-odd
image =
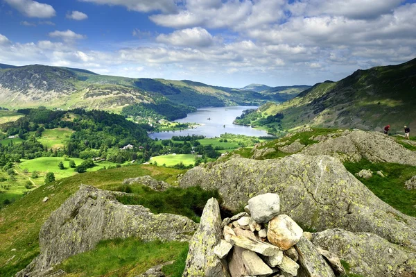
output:
[[[415,88],[416,59],[359,69],[341,81],[318,83],[291,101],[267,103],[259,112],[263,117],[282,114],[285,130],[307,124],[381,131],[390,124],[393,132],[401,132],[405,124],[416,126]]]

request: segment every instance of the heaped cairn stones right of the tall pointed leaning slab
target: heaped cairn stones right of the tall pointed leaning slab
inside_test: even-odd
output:
[[[223,219],[223,239],[214,247],[232,277],[345,274],[336,255],[315,247],[311,233],[280,214],[277,194],[256,196],[244,210]]]

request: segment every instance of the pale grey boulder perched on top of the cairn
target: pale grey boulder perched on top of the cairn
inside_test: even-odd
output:
[[[248,201],[250,215],[257,223],[266,223],[280,211],[279,195],[273,193],[261,194]]]

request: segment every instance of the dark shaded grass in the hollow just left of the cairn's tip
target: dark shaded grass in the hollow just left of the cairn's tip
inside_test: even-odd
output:
[[[184,215],[196,222],[200,221],[208,199],[214,197],[220,202],[220,195],[216,190],[206,191],[200,187],[170,187],[164,192],[156,192],[142,185],[121,185],[116,190],[134,194],[117,196],[117,200],[125,205],[144,205],[154,214]]]

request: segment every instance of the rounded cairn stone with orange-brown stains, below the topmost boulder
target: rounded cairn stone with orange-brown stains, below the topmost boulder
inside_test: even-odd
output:
[[[288,215],[278,215],[268,224],[267,238],[281,250],[288,250],[299,242],[303,230]]]

